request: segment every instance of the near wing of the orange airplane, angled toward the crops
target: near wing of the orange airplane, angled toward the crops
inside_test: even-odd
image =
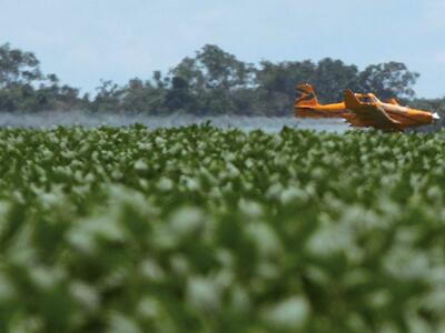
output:
[[[395,128],[400,122],[392,119],[383,108],[362,103],[353,93],[347,90],[345,93],[345,105],[355,117],[347,119],[353,125]]]

